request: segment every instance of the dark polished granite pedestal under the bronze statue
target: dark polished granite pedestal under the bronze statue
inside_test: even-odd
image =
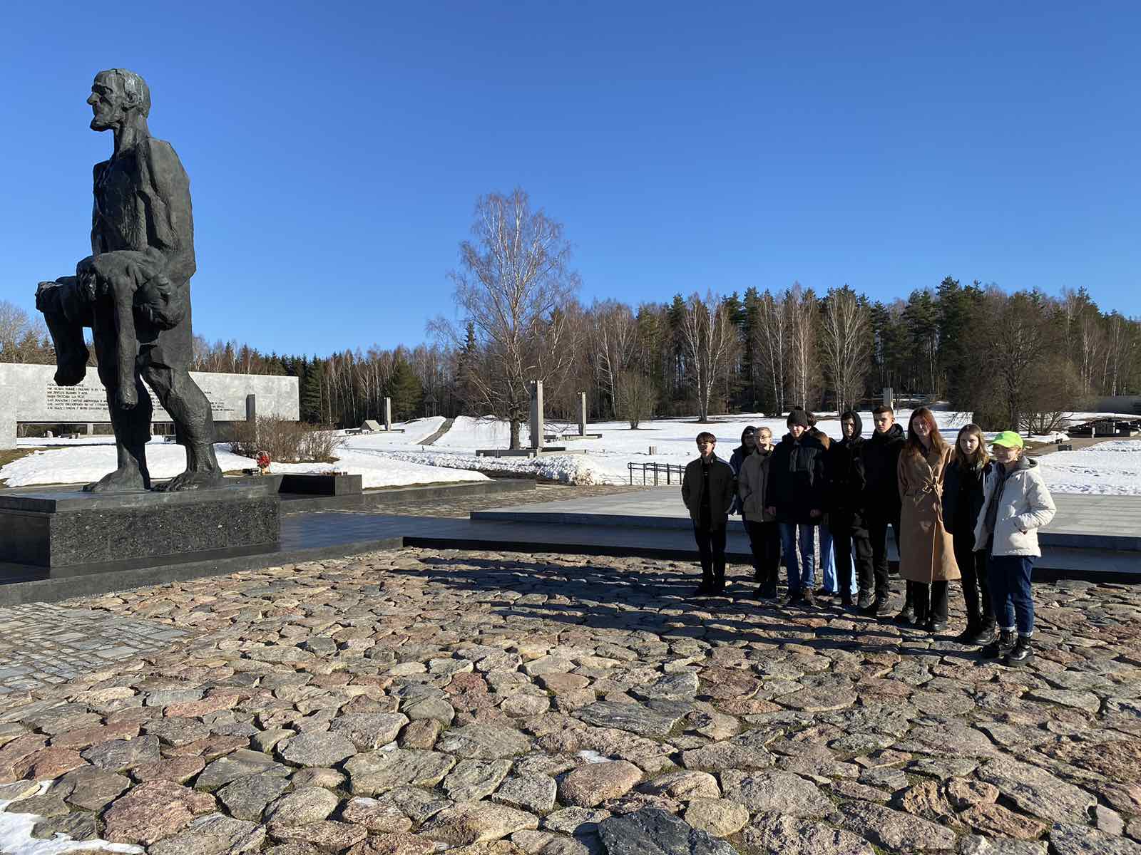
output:
[[[281,539],[270,484],[183,492],[0,495],[0,563],[51,577],[270,552]]]

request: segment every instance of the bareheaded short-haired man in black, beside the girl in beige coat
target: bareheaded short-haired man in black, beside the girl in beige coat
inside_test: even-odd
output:
[[[888,526],[899,543],[899,453],[904,448],[904,429],[896,424],[891,407],[872,410],[875,432],[860,445],[864,461],[864,520],[872,540],[872,570],[875,576],[875,598],[865,606],[867,614],[885,617],[891,612],[891,587],[888,581]],[[911,600],[907,602],[911,608]]]

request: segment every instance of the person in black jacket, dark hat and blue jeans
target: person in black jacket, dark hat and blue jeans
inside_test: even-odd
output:
[[[785,567],[788,568],[788,605],[801,601],[806,605],[815,605],[816,527],[824,516],[827,499],[825,453],[824,446],[808,433],[808,413],[792,410],[787,424],[788,433],[772,451],[769,462],[766,511],[775,515],[779,523]],[[796,564],[798,540],[801,567]]]

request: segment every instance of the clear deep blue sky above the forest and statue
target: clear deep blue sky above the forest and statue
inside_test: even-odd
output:
[[[0,299],[88,254],[122,66],[191,176],[209,340],[422,341],[515,186],[586,303],[952,275],[1141,315],[1136,3],[127,6],[5,16]]]

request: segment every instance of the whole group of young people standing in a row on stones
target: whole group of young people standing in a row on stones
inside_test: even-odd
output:
[[[906,432],[890,407],[872,415],[874,430],[865,438],[859,414],[842,414],[843,438],[835,440],[811,413],[793,409],[779,442],[768,427],[746,427],[729,461],[717,456],[712,433],[697,434],[701,456],[681,483],[702,563],[696,593],[725,592],[728,518],[739,514],[758,598],[777,598],[783,554],[786,605],[839,596],[845,608],[936,634],[947,629],[948,583],[961,579],[966,628],[956,641],[981,646],[987,659],[1025,662],[1033,656],[1037,530],[1054,515],[1037,462],[1014,431],[995,437],[988,453],[977,424],[947,443],[925,407],[912,413]],[[890,601],[889,526],[906,580],[898,613]],[[817,535],[823,572],[814,591]]]

